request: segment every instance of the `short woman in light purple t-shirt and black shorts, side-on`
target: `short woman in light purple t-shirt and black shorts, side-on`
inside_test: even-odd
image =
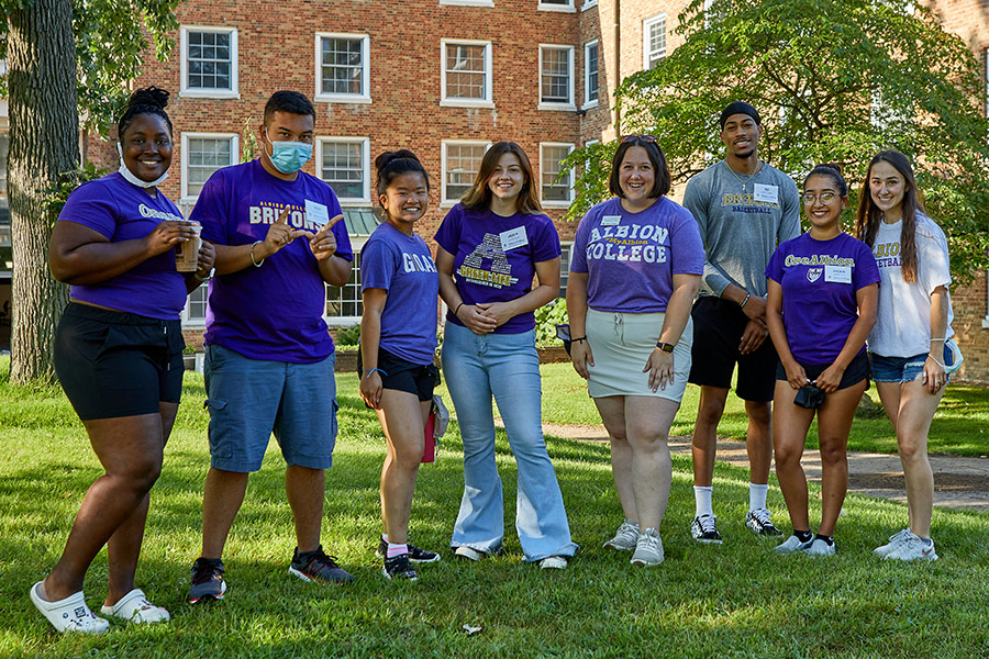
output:
[[[385,533],[378,556],[388,579],[416,580],[411,563],[440,560],[408,541],[424,428],[440,370],[436,295],[440,281],[430,249],[413,231],[430,203],[430,179],[410,150],[375,160],[381,223],[360,252],[364,314],[360,317],[360,398],[378,413],[388,451],[381,468]]]

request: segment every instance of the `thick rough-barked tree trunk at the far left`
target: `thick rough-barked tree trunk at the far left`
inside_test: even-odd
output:
[[[34,0],[9,14],[10,196],[13,284],[10,379],[53,381],[52,338],[68,288],[48,271],[56,213],[46,191],[79,163],[71,0]]]

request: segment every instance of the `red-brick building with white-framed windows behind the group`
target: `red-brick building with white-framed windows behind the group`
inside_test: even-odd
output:
[[[499,139],[518,142],[529,153],[546,212],[558,220],[571,199],[570,186],[555,182],[559,160],[575,146],[614,139],[620,123],[610,103],[615,82],[676,48],[680,37],[673,30],[687,4],[408,0],[385,15],[380,4],[362,0],[277,7],[257,0],[187,0],[178,7],[174,57],[162,64],[148,56],[135,87],[155,83],[173,92],[176,150],[171,178],[162,187],[186,210],[212,171],[240,161],[268,96],[296,89],[312,98],[318,111],[314,157],[305,171],[337,192],[358,249],[376,223],[374,158],[402,147],[419,154],[431,175],[430,211],[419,230],[423,236],[432,236],[474,179],[486,146]],[[934,0],[932,5],[946,29],[985,60],[989,2]],[[0,163],[5,159],[5,114],[0,101]],[[90,138],[87,150],[98,166],[116,168],[112,142]],[[0,168],[0,271],[10,249],[9,233],[3,242],[4,172]],[[676,199],[680,194],[674,192]],[[557,227],[565,276],[576,226],[557,222]],[[2,291],[0,279],[0,333]],[[953,298],[955,330],[966,354],[960,375],[989,381],[986,273]],[[356,323],[359,300],[358,258],[351,282],[327,290],[331,325]],[[185,313],[190,343],[201,336],[204,309],[200,289]]]

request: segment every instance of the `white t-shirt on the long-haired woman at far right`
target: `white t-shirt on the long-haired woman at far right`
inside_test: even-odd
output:
[[[869,334],[869,351],[884,357],[913,357],[931,349],[931,293],[952,283],[947,241],[944,232],[926,215],[916,214],[916,280],[907,283],[900,271],[900,233],[903,222],[879,223],[873,254],[879,266],[879,315]],[[951,298],[948,324],[952,331]]]

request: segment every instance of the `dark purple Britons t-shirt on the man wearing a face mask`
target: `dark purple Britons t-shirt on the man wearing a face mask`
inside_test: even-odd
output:
[[[293,181],[275,178],[259,160],[218,170],[199,193],[190,219],[202,224],[203,239],[218,245],[251,245],[264,241],[268,227],[289,208],[288,224],[312,233],[319,226],[305,216],[305,201],[341,213],[330,186],[300,171]],[[333,226],[336,256],[354,260],[343,222]],[[323,321],[326,289],[309,241],[292,241],[259,268],[210,280],[207,345],[220,345],[251,359],[311,364],[333,351]]]

